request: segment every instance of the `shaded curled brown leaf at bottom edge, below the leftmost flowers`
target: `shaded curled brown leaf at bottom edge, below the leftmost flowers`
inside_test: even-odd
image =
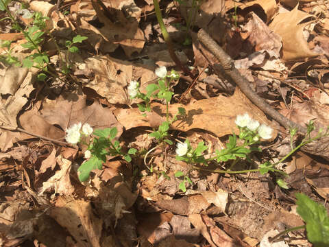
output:
[[[60,196],[49,215],[69,231],[77,246],[101,246],[103,220],[94,215],[91,202]]]

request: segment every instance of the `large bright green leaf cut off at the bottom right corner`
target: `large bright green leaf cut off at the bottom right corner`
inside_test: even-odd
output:
[[[329,246],[329,216],[326,208],[303,193],[297,193],[297,213],[306,222],[308,241],[315,247]]]

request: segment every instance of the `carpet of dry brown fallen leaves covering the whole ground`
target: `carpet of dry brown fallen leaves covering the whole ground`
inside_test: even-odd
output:
[[[165,152],[149,133],[166,120],[166,106],[151,99],[151,113],[141,115],[127,86],[140,83],[141,92],[154,83],[158,66],[180,73],[172,86],[168,111],[186,115],[173,121],[170,139],[188,138],[196,147],[208,145],[208,156],[223,150],[228,135],[239,134],[236,115],[271,126],[267,149],[254,155],[280,160],[291,150],[289,133],[254,105],[229,78],[210,51],[197,38],[203,28],[234,59],[258,95],[282,115],[302,126],[315,121],[328,124],[328,8],[322,1],[161,1],[164,23],[175,41],[175,53],[198,77],[180,71],[171,59],[154,14],[152,1],[45,1],[28,2],[30,11],[42,12],[48,36],[40,49],[53,64],[62,64],[53,38],[79,34],[88,39],[71,54],[71,73],[38,82],[36,68],[0,64],[0,239],[3,246],[309,246],[317,241],[312,222],[298,211],[328,212],[329,141],[308,145],[290,161],[279,163],[289,174],[287,189],[269,174],[217,174],[211,164],[185,178],[176,172],[190,169],[175,159],[174,145]],[[196,5],[195,5],[196,4]],[[29,25],[8,7],[21,23]],[[4,13],[4,12],[3,12]],[[3,15],[1,12],[1,18]],[[12,23],[1,23],[1,40],[12,40],[19,59],[29,54],[21,33]],[[188,32],[186,32],[189,28]],[[70,39],[71,40],[71,39]],[[184,45],[183,45],[184,43]],[[1,54],[5,52],[1,48]],[[59,69],[57,69],[59,71]],[[169,69],[168,69],[169,70]],[[61,75],[62,76],[62,75]],[[80,183],[78,168],[87,145],[66,145],[65,131],[77,123],[94,129],[116,127],[115,141],[123,150],[144,154],[127,162],[107,156],[103,169],[95,169]],[[297,141],[297,140],[296,140]],[[247,163],[236,163],[246,169]],[[184,185],[185,188],[185,185]],[[319,207],[302,194],[317,202]],[[316,192],[316,193],[315,193]],[[295,202],[297,202],[297,209]],[[304,203],[304,204],[303,204]],[[307,208],[308,207],[308,208]],[[306,216],[305,216],[306,215]],[[306,222],[278,242],[269,237]],[[318,224],[318,225],[317,225]],[[327,229],[328,230],[328,229]],[[325,229],[321,228],[321,231]],[[51,234],[49,234],[51,233]],[[316,246],[316,245],[315,245]]]

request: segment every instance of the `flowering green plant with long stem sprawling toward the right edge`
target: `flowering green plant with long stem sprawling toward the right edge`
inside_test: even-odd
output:
[[[300,149],[303,145],[306,145],[307,143],[310,143],[312,141],[315,141],[316,139],[319,139],[324,136],[328,136],[328,130],[324,132],[323,130],[320,130],[319,133],[311,138],[310,132],[312,132],[314,128],[313,121],[310,121],[310,123],[307,126],[308,132],[306,133],[306,136],[302,140],[302,142],[297,145],[296,148],[293,148],[289,154],[284,156],[280,161],[277,163],[271,163],[269,161],[265,161],[265,163],[262,163],[259,165],[258,169],[245,169],[245,170],[232,170],[232,167],[242,158],[244,158],[246,161],[251,161],[249,158],[249,154],[252,152],[261,152],[262,150],[260,148],[257,148],[256,146],[260,144],[260,139],[271,139],[272,129],[269,126],[265,126],[264,124],[260,125],[258,121],[251,119],[247,113],[245,115],[238,115],[236,117],[235,121],[236,125],[238,126],[240,130],[239,134],[239,145],[238,138],[233,133],[229,139],[228,143],[226,143],[226,148],[222,150],[215,150],[215,156],[212,156],[210,158],[204,158],[204,151],[208,150],[208,147],[204,145],[204,142],[199,142],[197,145],[197,148],[193,150],[191,147],[191,144],[186,139],[184,143],[178,143],[177,149],[176,149],[176,159],[178,161],[184,161],[188,165],[190,165],[191,169],[201,169],[208,172],[217,172],[217,173],[228,173],[228,174],[241,174],[241,173],[247,173],[247,172],[260,172],[260,174],[267,174],[268,172],[274,172],[278,174],[278,178],[276,179],[277,184],[284,188],[288,189],[287,183],[284,182],[284,176],[288,176],[285,172],[280,171],[279,169],[276,169],[276,165],[278,163],[282,163],[285,161],[291,154],[296,152],[298,149]],[[296,130],[291,130],[291,140],[293,140],[294,135],[296,134]],[[210,170],[207,169],[205,166],[208,166],[208,163],[212,161],[217,161],[218,163],[226,163],[228,161],[232,160],[232,165],[230,166],[230,169],[215,169]],[[190,172],[188,171],[188,173]],[[184,174],[184,176],[188,176],[188,174]],[[185,183],[184,183],[185,184]]]

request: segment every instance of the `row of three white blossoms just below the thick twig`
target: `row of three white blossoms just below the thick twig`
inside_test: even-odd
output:
[[[249,130],[256,131],[258,130],[258,134],[260,138],[263,139],[271,139],[273,129],[265,124],[259,124],[257,120],[249,117],[248,113],[244,115],[237,115],[235,119],[235,124],[241,128],[248,128]]]

